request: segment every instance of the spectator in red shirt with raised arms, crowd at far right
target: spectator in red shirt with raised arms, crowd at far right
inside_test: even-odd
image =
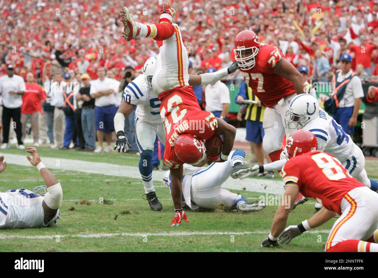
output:
[[[360,36],[359,41],[361,45],[351,45],[350,51],[355,54],[356,65],[362,64],[368,75],[372,74],[372,52],[377,48],[377,38],[369,44],[367,44],[366,37]]]

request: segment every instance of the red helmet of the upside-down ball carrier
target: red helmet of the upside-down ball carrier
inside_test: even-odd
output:
[[[175,143],[175,153],[182,162],[197,164],[206,157],[206,148],[197,136],[181,134]]]

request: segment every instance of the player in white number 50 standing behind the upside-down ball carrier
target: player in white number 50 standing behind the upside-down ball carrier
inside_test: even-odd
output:
[[[151,81],[155,73],[156,63],[160,63],[160,54],[157,57],[150,57],[144,63],[142,68],[143,74],[138,75],[130,82],[124,90],[123,101],[118,108],[114,117],[114,128],[117,134],[117,140],[114,149],[118,152],[126,152],[130,148],[130,144],[124,133],[125,118],[135,109],[135,128],[136,143],[140,155],[139,172],[142,176],[144,191],[151,210],[160,211],[161,205],[155,193],[152,182],[152,153],[153,143],[156,135],[160,141],[165,144],[166,136],[163,121],[160,116],[161,101],[156,97]],[[237,68],[235,65],[230,66]],[[189,85],[204,85],[207,76],[214,76],[212,73],[204,73],[203,75],[189,75]],[[221,77],[223,75],[220,75]]]

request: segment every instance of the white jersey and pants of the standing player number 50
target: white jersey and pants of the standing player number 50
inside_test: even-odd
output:
[[[125,87],[123,99],[129,104],[136,105],[135,129],[139,152],[153,151],[156,135],[165,144],[165,129],[159,112],[161,101],[156,97],[143,74]]]

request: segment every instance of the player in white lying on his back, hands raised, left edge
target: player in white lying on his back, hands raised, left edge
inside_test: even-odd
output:
[[[53,226],[59,219],[62,205],[62,187],[53,174],[41,162],[36,148],[26,148],[32,157],[26,156],[36,166],[45,185],[28,189],[10,189],[0,192],[0,229],[38,228]],[[4,156],[0,157],[0,173],[6,168]],[[4,175],[4,174],[3,174]],[[43,191],[44,194],[37,194]]]

